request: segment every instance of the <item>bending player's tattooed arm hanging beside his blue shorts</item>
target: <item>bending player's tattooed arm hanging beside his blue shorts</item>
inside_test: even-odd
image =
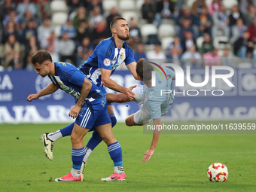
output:
[[[87,79],[84,78],[84,82],[81,86],[81,95],[75,104],[74,107],[71,108],[69,111],[69,117],[76,118],[78,117],[78,113],[81,110],[81,105],[83,104],[84,100],[87,98],[88,94],[90,93],[90,89],[92,87],[92,83]]]

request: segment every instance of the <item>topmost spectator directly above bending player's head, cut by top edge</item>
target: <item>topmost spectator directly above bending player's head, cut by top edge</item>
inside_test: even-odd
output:
[[[45,17],[50,17],[50,1],[48,0],[36,0],[36,16],[40,20],[43,20]]]

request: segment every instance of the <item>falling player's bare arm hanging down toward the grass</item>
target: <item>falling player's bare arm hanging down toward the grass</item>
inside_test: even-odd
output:
[[[160,127],[161,126],[161,117],[158,119],[154,119],[154,127]],[[148,151],[145,152],[145,156],[142,159],[142,162],[147,162],[147,160],[150,160],[151,156],[154,154],[154,149],[157,147],[157,142],[160,138],[160,131],[158,129],[154,130],[153,139],[151,142],[151,147],[148,149]]]

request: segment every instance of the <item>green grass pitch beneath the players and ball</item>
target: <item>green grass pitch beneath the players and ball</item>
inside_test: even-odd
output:
[[[151,160],[142,163],[152,136],[143,134],[142,126],[127,127],[123,123],[117,123],[114,135],[123,149],[126,181],[100,181],[113,172],[113,163],[102,143],[87,161],[85,181],[56,183],[55,178],[72,168],[70,137],[55,143],[53,161],[44,157],[39,137],[63,126],[66,124],[0,125],[0,191],[256,190],[256,135],[161,135]],[[90,136],[85,136],[85,144]],[[227,182],[208,180],[206,170],[215,162],[229,169]]]

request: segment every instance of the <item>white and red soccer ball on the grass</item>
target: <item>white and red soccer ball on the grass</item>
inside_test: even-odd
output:
[[[207,176],[212,182],[224,182],[227,181],[228,170],[227,166],[223,163],[213,163],[207,169]]]

